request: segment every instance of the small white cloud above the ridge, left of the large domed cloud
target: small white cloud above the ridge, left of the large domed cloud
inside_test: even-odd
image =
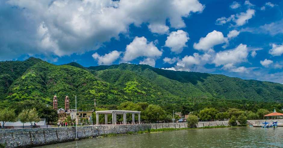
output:
[[[111,65],[120,57],[120,52],[114,50],[108,54],[104,54],[104,56],[101,56],[98,53],[94,53],[92,54],[92,57],[97,60],[98,65]]]

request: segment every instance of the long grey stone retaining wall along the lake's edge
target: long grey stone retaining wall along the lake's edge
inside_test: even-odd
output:
[[[198,122],[197,127],[228,125],[228,121]],[[159,128],[186,128],[187,123],[157,123],[137,125],[98,125],[77,127],[79,139],[98,137],[104,134],[126,134]],[[52,143],[73,141],[76,138],[76,127],[62,128],[24,128],[1,129],[0,143],[7,147],[33,147]]]

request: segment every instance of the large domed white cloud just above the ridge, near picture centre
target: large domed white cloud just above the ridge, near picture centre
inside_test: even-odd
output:
[[[158,50],[153,42],[148,42],[145,37],[135,37],[135,39],[126,46],[122,62],[132,61],[137,57],[150,57],[154,59],[161,55],[162,51]]]

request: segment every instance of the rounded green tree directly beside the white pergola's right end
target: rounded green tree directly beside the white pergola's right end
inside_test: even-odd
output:
[[[168,119],[166,112],[158,105],[149,105],[145,109],[145,119],[148,121],[161,121]]]

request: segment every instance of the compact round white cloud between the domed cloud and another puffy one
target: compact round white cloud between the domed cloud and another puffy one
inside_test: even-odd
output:
[[[172,52],[179,54],[183,51],[184,47],[187,47],[186,42],[189,39],[187,32],[183,30],[173,31],[167,36],[165,46],[171,48]]]

